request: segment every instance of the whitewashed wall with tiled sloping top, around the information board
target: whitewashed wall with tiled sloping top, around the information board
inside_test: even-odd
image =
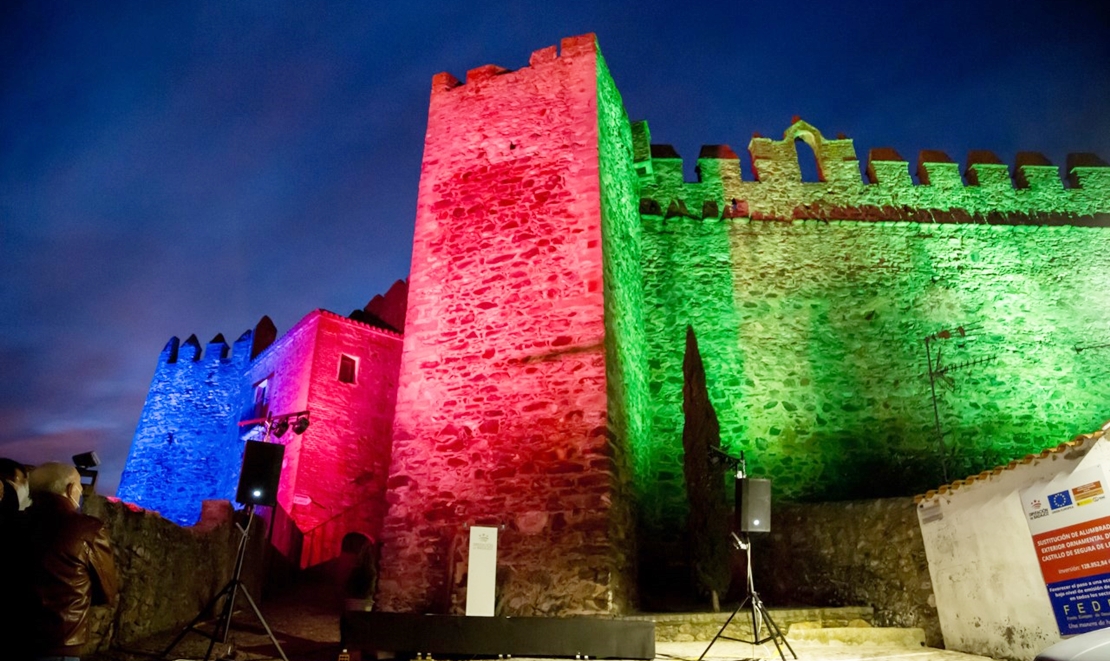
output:
[[[1060,640],[1019,492],[1100,463],[1102,432],[919,500],[946,648],[1028,661]]]

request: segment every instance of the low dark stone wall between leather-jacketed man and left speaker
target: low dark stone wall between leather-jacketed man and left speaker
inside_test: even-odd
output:
[[[118,608],[93,608],[87,651],[127,647],[183,627],[231,579],[239,532],[226,501],[206,501],[192,528],[102,497],[87,499],[84,512],[107,522],[120,578]],[[252,541],[259,542],[251,548],[256,557],[264,538]],[[258,564],[244,571],[250,585],[259,584]]]

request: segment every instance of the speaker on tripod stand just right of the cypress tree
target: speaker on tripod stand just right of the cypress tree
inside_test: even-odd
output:
[[[771,619],[770,613],[767,611],[767,607],[759,599],[751,573],[751,540],[748,538],[748,533],[770,532],[770,480],[749,478],[743,452],[740,453],[740,458],[736,459],[726,454],[719,448],[713,448],[712,450],[718,461],[724,461],[736,470],[736,530],[730,535],[733,538],[733,547],[739,551],[744,551],[747,557],[747,594],[744,597],[744,601],[733,611],[733,614],[728,615],[720,631],[717,632],[717,635],[713,637],[713,640],[706,645],[705,651],[697,658],[697,661],[705,659],[705,655],[709,653],[709,649],[713,648],[714,643],[722,639],[751,645],[761,645],[770,641],[775,643],[775,649],[778,650],[778,655],[783,661],[786,661],[786,654],[783,653],[784,645],[790,651],[790,655],[797,659],[798,655],[794,652],[790,643],[786,641],[783,630],[778,628],[778,624],[775,623],[775,620]],[[733,619],[736,618],[736,614],[744,607],[748,607],[750,610],[751,640],[725,635],[725,630],[728,629]],[[766,635],[764,635],[764,631],[767,632]]]

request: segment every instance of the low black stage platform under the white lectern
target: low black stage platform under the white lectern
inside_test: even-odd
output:
[[[343,641],[365,651],[654,659],[655,622],[609,618],[467,618],[347,611]]]

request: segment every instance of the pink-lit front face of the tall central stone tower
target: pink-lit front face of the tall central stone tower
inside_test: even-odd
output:
[[[458,612],[502,527],[504,614],[623,607],[610,535],[598,53],[433,80],[377,602]]]

